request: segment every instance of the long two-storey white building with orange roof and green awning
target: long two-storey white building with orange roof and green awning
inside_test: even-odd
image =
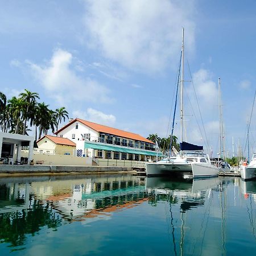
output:
[[[55,133],[76,143],[77,156],[116,160],[154,160],[155,143],[139,134],[72,119]]]

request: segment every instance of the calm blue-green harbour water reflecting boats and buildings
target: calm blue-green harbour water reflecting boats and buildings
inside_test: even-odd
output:
[[[255,255],[256,181],[0,178],[0,255]]]

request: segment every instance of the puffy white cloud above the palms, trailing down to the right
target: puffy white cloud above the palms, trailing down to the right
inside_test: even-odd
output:
[[[45,65],[27,61],[31,73],[60,104],[72,101],[110,103],[110,90],[89,77],[77,75],[72,53],[56,49]]]

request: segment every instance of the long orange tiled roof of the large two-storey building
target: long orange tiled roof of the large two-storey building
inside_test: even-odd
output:
[[[106,134],[111,134],[111,135],[115,135],[115,136],[118,136],[118,137],[134,139],[135,141],[143,141],[143,142],[155,144],[154,142],[142,137],[139,134],[130,133],[129,131],[123,131],[123,130],[115,129],[113,127],[109,127],[109,126],[105,126],[105,125],[99,125],[98,123],[85,121],[85,120],[79,119],[79,118],[73,119],[71,122],[69,122],[67,125],[62,127],[60,130],[56,131],[55,134],[60,133],[60,131],[64,130],[69,125],[71,125],[72,123],[75,123],[77,121],[83,123],[86,126],[89,126],[90,128],[92,128],[93,130],[98,131],[99,133],[106,133]]]

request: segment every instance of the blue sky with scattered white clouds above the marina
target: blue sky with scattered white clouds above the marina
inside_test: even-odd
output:
[[[255,1],[0,3],[0,91],[7,98],[28,89],[51,109],[65,106],[70,118],[167,137],[184,27],[184,139],[217,154],[220,77],[226,154],[233,155],[232,138],[235,155],[245,150],[256,89]]]

